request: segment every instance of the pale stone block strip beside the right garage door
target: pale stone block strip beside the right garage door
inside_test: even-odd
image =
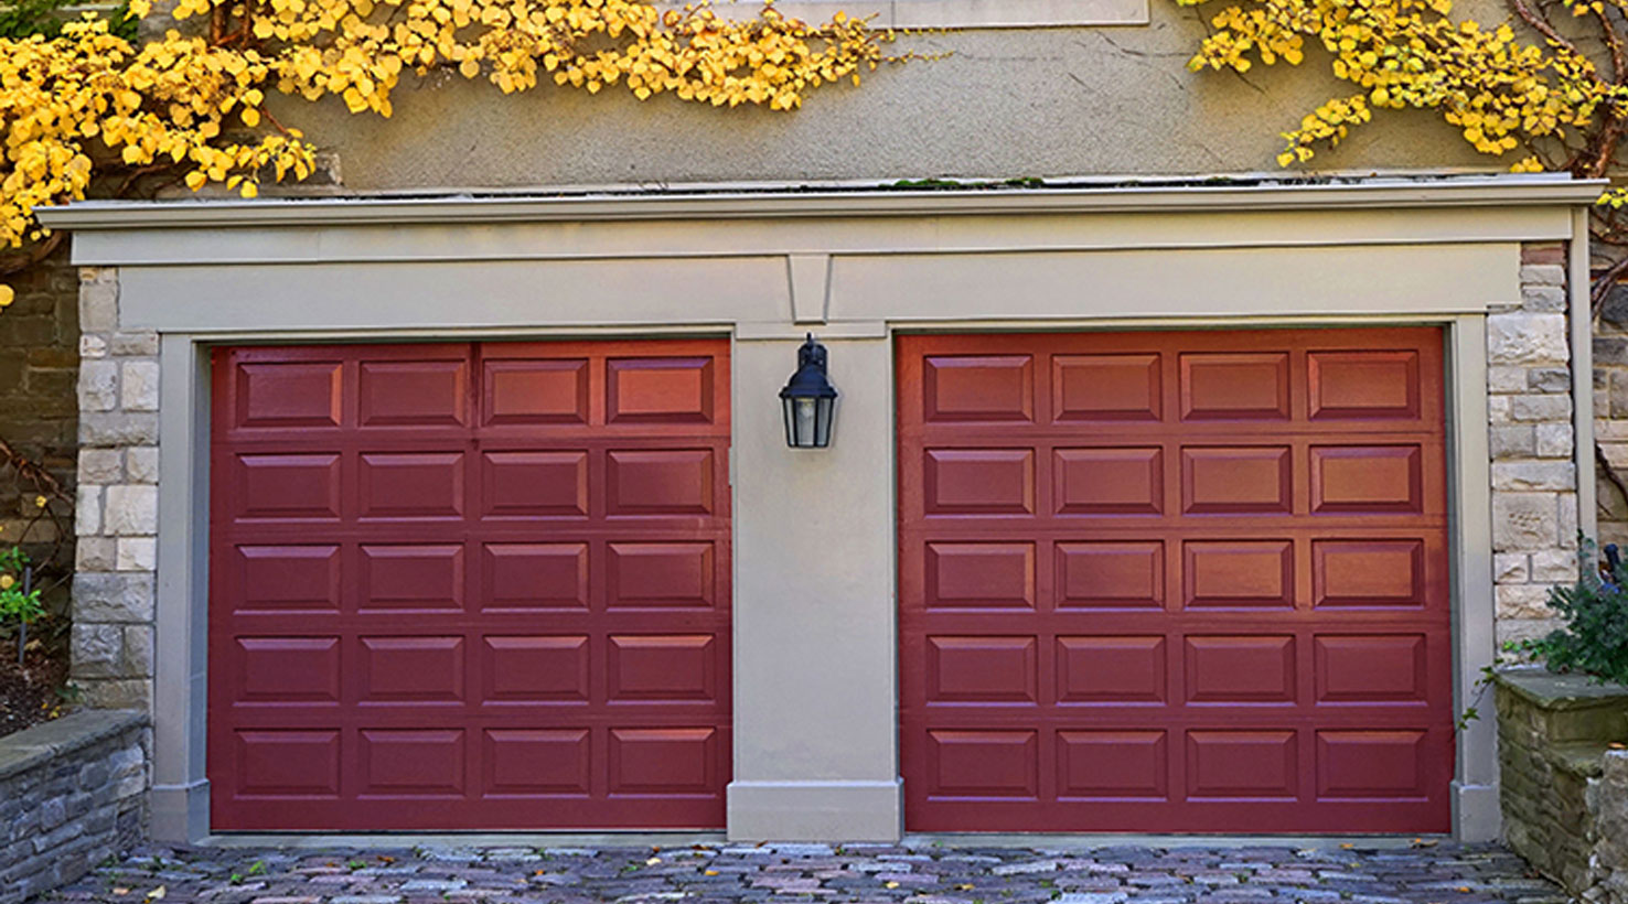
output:
[[[1578,579],[1566,246],[1521,249],[1521,304],[1486,317],[1498,639],[1553,628],[1547,600]]]

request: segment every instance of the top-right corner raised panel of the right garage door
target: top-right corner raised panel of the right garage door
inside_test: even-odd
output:
[[[1312,351],[1306,354],[1314,421],[1418,419],[1418,351]]]

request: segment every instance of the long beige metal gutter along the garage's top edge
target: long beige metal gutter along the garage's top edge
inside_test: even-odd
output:
[[[444,195],[184,202],[78,202],[37,208],[52,229],[308,228],[414,223],[1232,213],[1587,205],[1605,180],[1569,177],[1382,179],[1354,184],[1127,185],[952,190],[728,190],[694,193]]]

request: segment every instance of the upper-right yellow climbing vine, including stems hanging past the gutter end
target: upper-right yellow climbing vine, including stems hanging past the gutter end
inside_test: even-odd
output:
[[[1211,0],[1177,0],[1185,7]],[[1438,112],[1477,151],[1514,172],[1605,177],[1621,169],[1628,130],[1628,0],[1508,0],[1511,21],[1452,16],[1451,0],[1244,0],[1210,16],[1192,70],[1299,65],[1327,52],[1351,85],[1283,133],[1280,166],[1311,161],[1387,109]],[[1589,50],[1597,49],[1597,50]],[[1594,242],[1617,265],[1594,306],[1628,272],[1628,189],[1600,197]]]

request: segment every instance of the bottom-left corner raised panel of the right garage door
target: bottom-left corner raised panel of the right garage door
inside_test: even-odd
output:
[[[928,730],[928,798],[1040,793],[1035,732]]]

